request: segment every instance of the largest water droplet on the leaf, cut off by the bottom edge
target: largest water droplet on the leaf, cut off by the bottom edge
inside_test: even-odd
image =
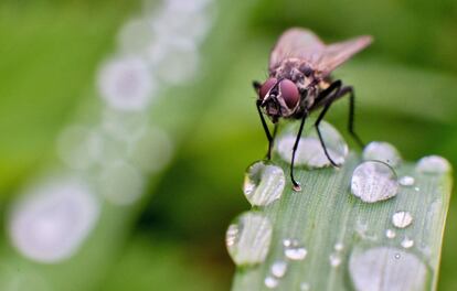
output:
[[[396,248],[353,251],[349,260],[355,290],[424,290],[427,272],[427,267],[415,255]]]

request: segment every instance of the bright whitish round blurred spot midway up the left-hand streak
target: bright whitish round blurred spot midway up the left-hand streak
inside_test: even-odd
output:
[[[105,101],[120,110],[145,109],[156,87],[145,61],[132,56],[106,63],[98,86]]]

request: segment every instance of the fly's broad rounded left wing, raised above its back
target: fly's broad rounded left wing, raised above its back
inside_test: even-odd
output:
[[[274,71],[286,58],[300,58],[308,63],[315,63],[326,45],[322,41],[306,29],[289,29],[283,33],[273,48],[269,58],[269,69]]]

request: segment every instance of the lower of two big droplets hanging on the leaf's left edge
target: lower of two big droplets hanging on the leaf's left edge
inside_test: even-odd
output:
[[[225,244],[236,265],[263,262],[272,241],[272,224],[258,213],[244,213],[228,226]]]

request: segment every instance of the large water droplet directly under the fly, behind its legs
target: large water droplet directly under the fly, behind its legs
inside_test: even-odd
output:
[[[343,164],[349,152],[348,144],[330,123],[322,121],[319,128],[329,155],[337,164]],[[287,128],[284,131],[286,133],[278,138],[276,151],[283,160],[290,163],[293,147],[297,137],[297,129],[291,125],[290,128]],[[295,164],[306,165],[308,168],[323,168],[331,165],[323,152],[315,128],[305,130],[305,133],[300,138]]]

